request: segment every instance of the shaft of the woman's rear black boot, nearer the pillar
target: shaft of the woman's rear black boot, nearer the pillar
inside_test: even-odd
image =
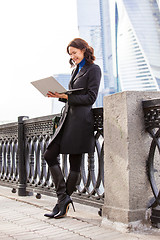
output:
[[[76,191],[76,185],[79,179],[80,173],[75,171],[70,171],[67,181],[66,181],[66,191],[69,196]]]

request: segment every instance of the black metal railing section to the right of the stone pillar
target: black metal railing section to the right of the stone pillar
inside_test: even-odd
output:
[[[160,99],[143,101],[146,131],[152,137],[147,173],[154,197],[150,201],[151,222],[160,228]]]

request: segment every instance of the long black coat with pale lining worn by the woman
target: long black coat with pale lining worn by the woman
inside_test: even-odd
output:
[[[98,65],[85,64],[72,74],[69,89],[84,88],[68,95],[59,127],[51,142],[61,132],[60,153],[81,154],[94,152],[94,118],[92,105],[98,94],[101,70]]]

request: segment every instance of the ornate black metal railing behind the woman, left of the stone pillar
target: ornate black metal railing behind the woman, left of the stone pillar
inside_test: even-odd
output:
[[[97,207],[104,199],[103,165],[103,109],[93,109],[95,117],[95,152],[84,154],[81,179],[73,198]],[[43,153],[52,136],[53,115],[28,119],[19,117],[18,123],[0,125],[0,184],[18,189],[23,196],[31,192],[54,195],[48,166]],[[67,178],[68,156],[60,155],[60,165]]]

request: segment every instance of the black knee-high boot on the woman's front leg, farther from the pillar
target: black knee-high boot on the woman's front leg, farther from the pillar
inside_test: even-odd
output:
[[[61,218],[66,215],[69,204],[72,203],[72,206],[73,206],[73,202],[69,197],[69,195],[66,193],[66,183],[65,183],[60,166],[54,165],[52,167],[49,167],[49,170],[51,172],[53,182],[55,184],[58,203],[53,208],[53,211],[51,214],[45,214],[44,216],[50,217],[50,218]]]

